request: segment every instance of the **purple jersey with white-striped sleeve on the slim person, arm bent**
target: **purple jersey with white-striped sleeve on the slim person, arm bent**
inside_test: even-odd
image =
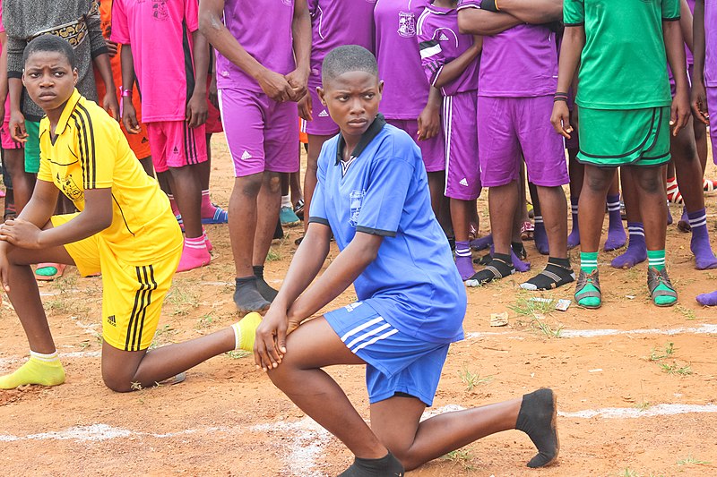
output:
[[[472,35],[458,31],[458,11],[428,5],[417,25],[420,60],[428,81],[436,84],[445,64],[462,55],[473,44]],[[454,81],[441,88],[444,96],[478,89],[478,57]]]

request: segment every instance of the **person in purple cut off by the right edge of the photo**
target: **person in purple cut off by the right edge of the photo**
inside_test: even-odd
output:
[[[693,29],[695,70],[692,73],[692,112],[697,120],[717,131],[717,114],[708,113],[709,109],[717,111],[717,4],[696,0]],[[717,134],[712,135],[712,150],[715,159]],[[717,291],[697,295],[697,302],[704,306],[717,306]]]

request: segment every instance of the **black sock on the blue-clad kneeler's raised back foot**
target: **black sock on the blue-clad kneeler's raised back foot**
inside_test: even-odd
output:
[[[557,409],[552,389],[541,388],[523,396],[515,429],[523,430],[538,448],[528,467],[552,464],[560,450],[556,427]]]

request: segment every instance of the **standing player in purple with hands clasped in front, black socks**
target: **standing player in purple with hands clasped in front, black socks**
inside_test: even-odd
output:
[[[240,313],[265,311],[276,296],[263,263],[279,221],[281,173],[298,171],[297,102],[307,93],[311,50],[307,0],[202,0],[199,16],[217,52],[236,176],[229,199],[234,302]]]

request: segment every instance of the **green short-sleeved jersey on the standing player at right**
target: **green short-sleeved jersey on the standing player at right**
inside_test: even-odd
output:
[[[579,106],[669,106],[662,21],[679,20],[679,0],[565,0],[566,27],[584,26]]]

